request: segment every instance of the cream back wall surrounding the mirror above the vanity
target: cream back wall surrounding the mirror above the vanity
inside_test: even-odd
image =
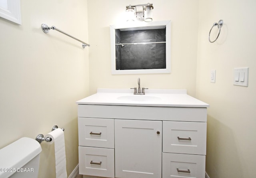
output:
[[[196,93],[196,57],[198,34],[198,0],[152,0],[153,20],[171,22],[171,73],[112,75],[110,59],[110,28],[112,24],[126,22],[125,7],[144,4],[143,0],[89,0],[88,32],[91,47],[90,93],[97,88],[187,89]],[[144,22],[142,22],[144,23]]]

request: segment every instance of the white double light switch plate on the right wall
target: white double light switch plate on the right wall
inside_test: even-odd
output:
[[[233,84],[248,87],[249,67],[234,69]]]

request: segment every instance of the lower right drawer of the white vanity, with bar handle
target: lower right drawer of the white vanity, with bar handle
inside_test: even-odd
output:
[[[205,156],[162,153],[162,177],[205,178]]]

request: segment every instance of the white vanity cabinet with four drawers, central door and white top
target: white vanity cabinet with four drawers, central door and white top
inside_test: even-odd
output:
[[[175,95],[183,105],[107,103],[97,94],[77,102],[84,178],[205,177],[208,104],[185,94]]]

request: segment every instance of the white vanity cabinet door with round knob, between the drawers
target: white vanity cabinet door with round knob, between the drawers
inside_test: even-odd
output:
[[[160,178],[162,121],[114,122],[116,178]]]

